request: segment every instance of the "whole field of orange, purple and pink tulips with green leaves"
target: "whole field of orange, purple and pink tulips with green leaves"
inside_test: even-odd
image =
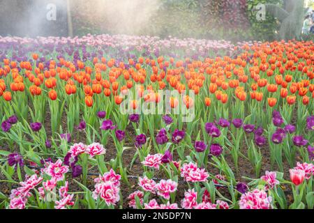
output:
[[[0,208],[313,209],[313,53],[0,37]]]

